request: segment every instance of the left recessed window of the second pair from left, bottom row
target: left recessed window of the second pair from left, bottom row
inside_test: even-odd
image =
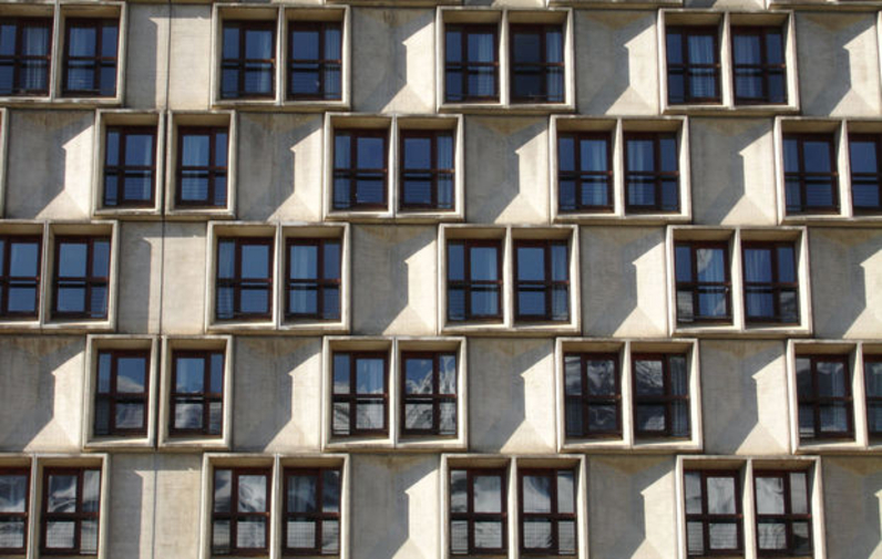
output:
[[[269,550],[270,468],[214,470],[212,552],[266,555]]]

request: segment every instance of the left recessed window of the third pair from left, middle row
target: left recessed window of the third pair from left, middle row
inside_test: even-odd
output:
[[[502,242],[448,242],[448,320],[502,320]]]

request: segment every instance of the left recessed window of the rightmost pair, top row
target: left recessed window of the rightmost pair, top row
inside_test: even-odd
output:
[[[667,29],[668,103],[720,103],[716,27]]]

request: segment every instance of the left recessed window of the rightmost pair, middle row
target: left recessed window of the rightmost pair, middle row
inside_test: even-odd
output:
[[[726,242],[675,246],[677,322],[731,322],[729,247]]]

